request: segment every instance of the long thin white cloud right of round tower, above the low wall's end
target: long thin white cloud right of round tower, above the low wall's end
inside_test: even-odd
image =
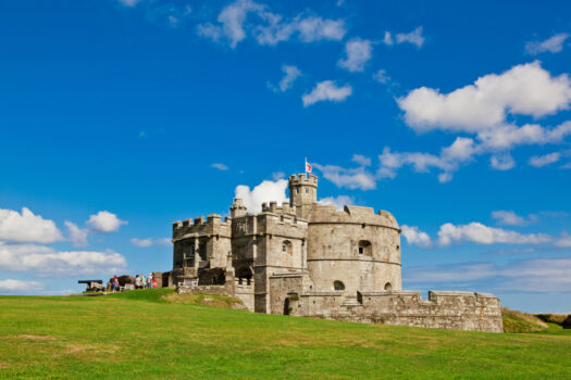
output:
[[[455,226],[446,223],[438,231],[438,243],[449,245],[471,241],[480,244],[543,244],[551,242],[553,239],[544,233],[519,233],[502,228],[487,227],[481,223],[472,221],[468,225]]]

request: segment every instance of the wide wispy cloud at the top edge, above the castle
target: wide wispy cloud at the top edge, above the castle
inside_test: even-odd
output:
[[[248,23],[253,15],[256,23]],[[298,15],[284,20],[281,14],[269,11],[264,4],[251,0],[237,0],[225,7],[218,16],[218,23],[198,26],[198,34],[212,40],[225,39],[231,48],[243,41],[247,34],[259,45],[277,45],[297,35],[302,42],[340,40],[346,34],[342,20],[327,20],[313,15]]]

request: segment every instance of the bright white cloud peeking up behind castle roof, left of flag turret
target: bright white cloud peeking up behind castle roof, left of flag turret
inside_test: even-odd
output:
[[[250,190],[249,186],[238,185],[234,191],[234,198],[239,198],[244,201],[244,205],[250,213],[259,213],[262,211],[262,203],[270,203],[272,201],[282,204],[288,202],[286,197],[286,189],[288,181],[286,179],[278,179],[276,181],[264,180],[260,185]]]

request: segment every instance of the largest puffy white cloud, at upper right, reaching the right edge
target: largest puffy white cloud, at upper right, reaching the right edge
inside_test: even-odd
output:
[[[450,93],[421,87],[397,100],[405,121],[417,131],[433,129],[477,132],[500,126],[507,113],[541,117],[569,107],[567,74],[551,77],[538,61],[517,65]]]

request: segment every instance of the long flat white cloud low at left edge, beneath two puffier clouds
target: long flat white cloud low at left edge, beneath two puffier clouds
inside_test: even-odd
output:
[[[73,277],[119,271],[126,265],[125,257],[115,252],[57,252],[44,245],[0,242],[0,270]]]

